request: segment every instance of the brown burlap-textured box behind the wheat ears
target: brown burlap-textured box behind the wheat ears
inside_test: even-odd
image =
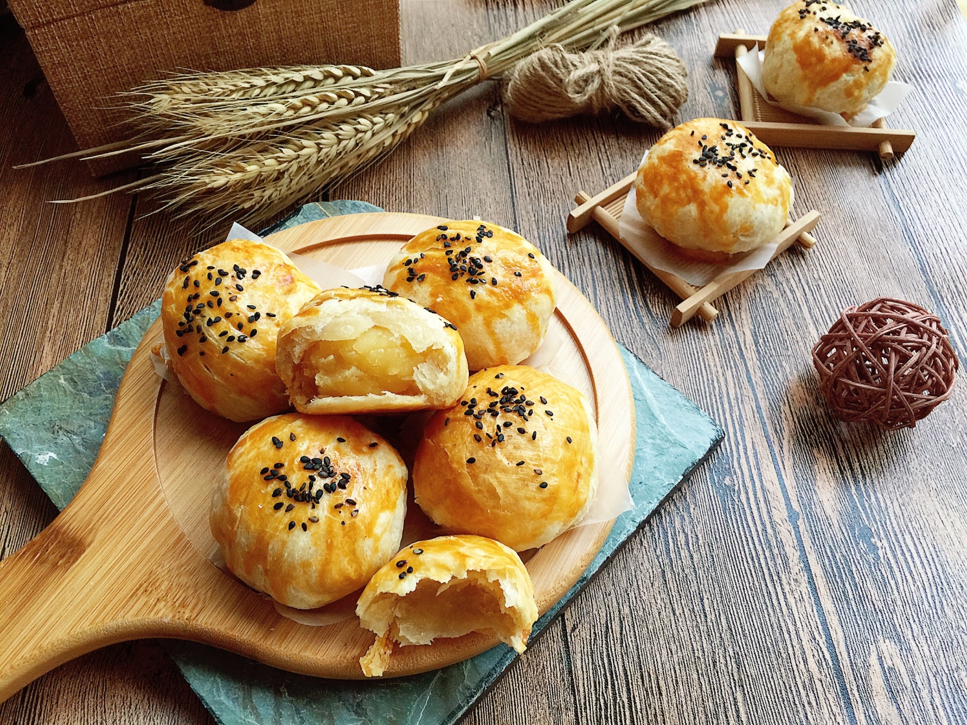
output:
[[[117,94],[179,70],[399,65],[397,0],[9,0],[81,148],[131,135]],[[102,175],[135,162],[91,163]]]

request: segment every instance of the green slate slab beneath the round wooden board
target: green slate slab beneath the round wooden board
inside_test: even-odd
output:
[[[307,204],[263,233],[319,218],[378,211],[356,201]],[[0,405],[0,435],[58,508],[70,502],[94,464],[125,366],[159,311],[160,303],[145,307]],[[634,507],[618,518],[601,552],[571,591],[535,625],[532,643],[722,438],[718,424],[682,393],[628,350],[622,348],[621,354],[637,420],[630,479]],[[165,645],[222,725],[452,723],[517,656],[501,645],[423,675],[331,681],[293,675],[205,645],[177,640]]]

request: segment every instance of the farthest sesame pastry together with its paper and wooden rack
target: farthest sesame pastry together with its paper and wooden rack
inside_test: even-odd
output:
[[[715,56],[737,61],[739,118],[770,146],[875,151],[887,161],[916,138],[886,124],[910,90],[891,82],[894,46],[843,5],[798,0],[768,37],[719,35]]]

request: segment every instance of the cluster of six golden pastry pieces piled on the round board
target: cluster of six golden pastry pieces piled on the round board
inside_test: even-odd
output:
[[[362,591],[366,676],[392,670],[395,646],[471,631],[522,652],[538,612],[517,552],[577,524],[598,486],[588,401],[517,364],[547,331],[555,273],[513,231],[453,221],[404,245],[383,284],[320,290],[243,240],[172,273],[171,372],[209,411],[257,420],[228,453],[212,534],[284,605]],[[412,471],[351,417],[409,411],[431,412]],[[444,536],[400,549],[410,478]]]

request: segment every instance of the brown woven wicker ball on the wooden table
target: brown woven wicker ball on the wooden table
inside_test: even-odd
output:
[[[844,309],[812,362],[836,418],[890,430],[915,427],[949,398],[959,366],[939,317],[886,297]]]

